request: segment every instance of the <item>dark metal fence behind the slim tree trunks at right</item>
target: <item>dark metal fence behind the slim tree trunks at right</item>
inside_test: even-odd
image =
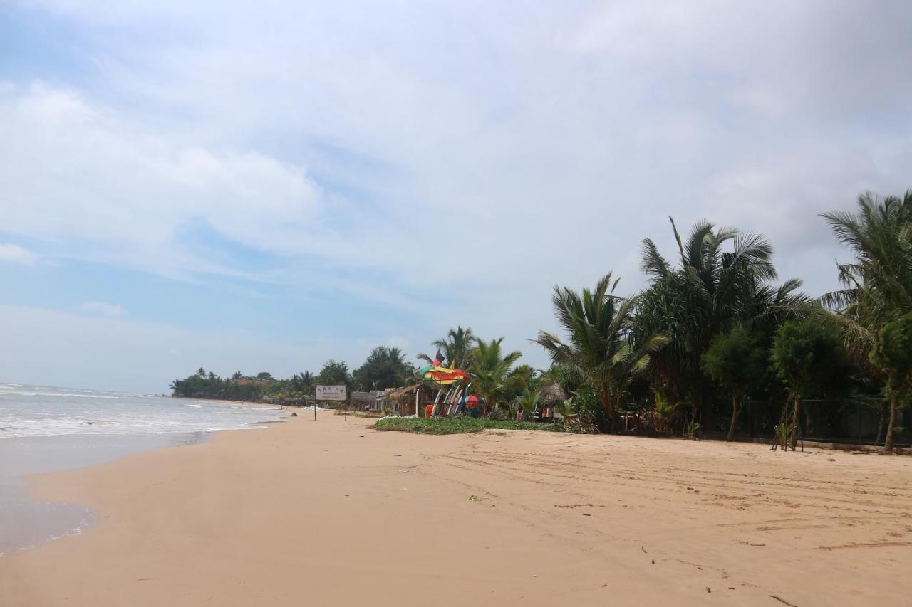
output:
[[[783,401],[750,400],[741,406],[736,431],[751,437],[772,437],[782,418]],[[883,445],[889,405],[880,398],[803,400],[801,434],[805,440],[856,445]],[[728,429],[731,419],[720,419]],[[912,408],[900,408],[896,416],[894,443],[912,446]]]

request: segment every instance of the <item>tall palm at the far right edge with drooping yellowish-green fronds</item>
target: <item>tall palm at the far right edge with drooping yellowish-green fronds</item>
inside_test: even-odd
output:
[[[900,199],[876,194],[858,197],[855,213],[824,213],[836,239],[855,255],[838,265],[842,291],[827,293],[820,301],[834,312],[843,328],[845,345],[859,368],[880,382],[883,369],[869,365],[868,355],[880,345],[886,324],[912,312],[912,190]],[[885,446],[892,446],[896,398],[890,398]],[[879,439],[880,437],[878,437]]]

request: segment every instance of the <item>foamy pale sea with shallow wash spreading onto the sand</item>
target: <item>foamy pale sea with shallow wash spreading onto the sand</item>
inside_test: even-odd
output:
[[[78,504],[29,499],[27,477],[139,451],[191,445],[227,429],[264,430],[281,407],[0,383],[0,558],[87,529]]]

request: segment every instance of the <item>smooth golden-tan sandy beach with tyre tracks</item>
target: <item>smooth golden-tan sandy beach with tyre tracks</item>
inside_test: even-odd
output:
[[[328,412],[33,479],[98,525],[0,604],[904,605],[912,458]],[[776,598],[778,597],[778,599]]]

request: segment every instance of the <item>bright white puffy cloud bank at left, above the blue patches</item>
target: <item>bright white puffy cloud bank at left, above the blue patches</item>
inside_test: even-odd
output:
[[[317,220],[306,171],[253,149],[209,149],[153,133],[77,92],[36,83],[0,91],[4,230],[78,244],[161,272],[227,272],[181,242],[202,221],[254,249],[295,252]],[[88,251],[87,251],[88,248]]]

